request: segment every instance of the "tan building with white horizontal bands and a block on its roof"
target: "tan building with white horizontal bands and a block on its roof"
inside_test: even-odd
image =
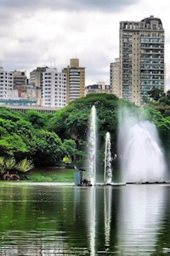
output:
[[[79,66],[78,59],[71,59],[71,64],[62,70],[66,74],[66,103],[84,97],[85,68]]]

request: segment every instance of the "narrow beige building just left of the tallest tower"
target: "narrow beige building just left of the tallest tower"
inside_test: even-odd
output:
[[[118,98],[121,97],[121,88],[120,88],[120,64],[119,59],[115,59],[115,62],[112,62],[110,65],[110,83],[111,83],[111,92],[115,94]]]

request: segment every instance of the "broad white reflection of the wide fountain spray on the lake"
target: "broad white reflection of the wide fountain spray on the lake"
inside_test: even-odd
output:
[[[122,188],[118,214],[121,255],[150,255],[163,220],[165,187],[131,185]]]

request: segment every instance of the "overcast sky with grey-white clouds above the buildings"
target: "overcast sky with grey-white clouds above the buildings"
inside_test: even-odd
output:
[[[110,82],[119,56],[119,22],[154,15],[165,29],[167,88],[170,88],[169,0],[0,0],[0,61],[8,71],[37,66],[59,71],[78,58],[86,85]]]

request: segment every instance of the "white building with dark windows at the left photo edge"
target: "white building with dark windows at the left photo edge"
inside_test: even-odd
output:
[[[3,71],[0,67],[0,99],[8,98],[8,91],[13,90],[13,72]]]

